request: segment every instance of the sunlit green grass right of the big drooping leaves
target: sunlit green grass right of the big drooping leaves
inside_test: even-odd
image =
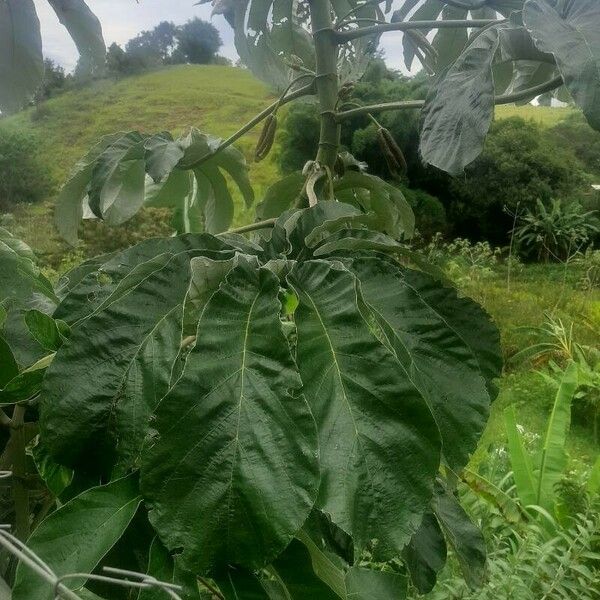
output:
[[[519,423],[531,433],[542,435],[555,390],[538,374],[548,357],[535,362],[511,361],[511,356],[527,347],[534,338],[519,331],[522,326],[540,326],[544,313],[552,313],[569,326],[574,323],[575,341],[598,348],[600,338],[600,289],[581,289],[583,269],[571,266],[566,274],[561,265],[524,265],[512,275],[508,287],[506,270],[498,269],[492,275],[467,278],[461,284],[463,291],[479,301],[497,323],[502,336],[505,373],[499,381],[499,395],[490,414],[484,435],[473,464],[485,460],[490,446],[504,443],[503,412],[516,404]],[[566,275],[566,276],[565,276]],[[588,466],[598,456],[590,428],[573,423],[568,438],[572,459]]]

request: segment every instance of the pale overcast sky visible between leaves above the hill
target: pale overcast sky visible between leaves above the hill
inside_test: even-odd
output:
[[[64,27],[58,22],[46,0],[34,0],[42,24],[44,55],[71,70],[77,62],[77,50]],[[87,0],[96,13],[104,31],[106,45],[113,42],[124,45],[140,31],[152,29],[161,21],[185,23],[193,17],[210,20],[211,6],[194,6],[195,0]],[[212,23],[221,33],[223,47],[220,54],[236,59],[231,28],[220,16]],[[389,66],[400,67],[401,34],[390,33],[385,37],[384,49]]]

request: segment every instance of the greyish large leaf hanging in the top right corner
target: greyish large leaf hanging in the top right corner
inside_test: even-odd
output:
[[[559,11],[545,0],[527,0],[523,21],[536,46],[554,55],[573,99],[600,130],[600,4],[575,0]]]

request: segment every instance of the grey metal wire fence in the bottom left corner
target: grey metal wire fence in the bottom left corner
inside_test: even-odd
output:
[[[1,477],[1,475],[0,475]],[[165,598],[182,600],[179,593],[182,588],[179,585],[159,581],[146,573],[137,573],[114,567],[104,567],[104,575],[95,573],[67,573],[57,575],[52,569],[21,540],[10,533],[10,525],[0,525],[0,546],[15,556],[21,564],[27,566],[39,577],[48,582],[49,590],[54,591],[55,600],[84,600],[76,591],[70,589],[66,582],[80,581],[81,588],[87,581],[100,581],[111,585],[118,585],[136,589],[158,589],[164,592]]]

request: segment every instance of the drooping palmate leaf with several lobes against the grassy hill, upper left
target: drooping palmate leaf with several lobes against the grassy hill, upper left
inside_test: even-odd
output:
[[[217,152],[220,143],[197,129],[177,140],[167,132],[136,131],[103,138],[77,163],[59,194],[59,232],[76,244],[86,209],[109,225],[119,225],[142,206],[173,209],[180,233],[225,231],[234,212],[227,177],[247,206],[254,192],[243,154],[233,146]]]

